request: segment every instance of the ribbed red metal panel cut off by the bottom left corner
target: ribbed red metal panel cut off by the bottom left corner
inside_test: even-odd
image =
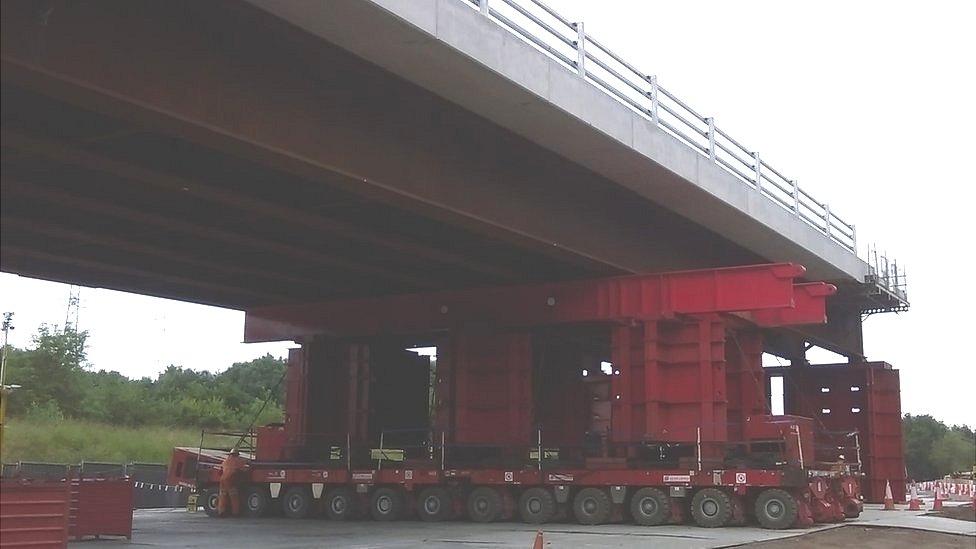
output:
[[[0,482],[0,547],[67,547],[70,502],[67,482]]]

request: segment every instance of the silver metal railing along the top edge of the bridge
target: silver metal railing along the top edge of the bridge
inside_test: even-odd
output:
[[[857,230],[647,74],[540,0],[460,0],[711,159],[743,184],[857,255]]]

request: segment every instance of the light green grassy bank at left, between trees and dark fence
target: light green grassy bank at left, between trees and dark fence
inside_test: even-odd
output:
[[[197,446],[195,427],[119,427],[64,420],[10,419],[4,427],[4,463],[169,463],[174,446]]]

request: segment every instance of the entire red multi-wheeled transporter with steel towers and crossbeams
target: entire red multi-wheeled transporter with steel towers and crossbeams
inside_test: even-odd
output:
[[[243,513],[643,525],[690,514],[706,527],[754,517],[769,528],[856,515],[854,462],[818,463],[809,416],[769,414],[763,330],[823,323],[834,292],[797,284],[803,272],[759,265],[248,311],[246,340],[302,348],[285,423],[258,432]],[[183,461],[174,466],[189,472]],[[193,470],[174,480],[209,494],[216,473]]]

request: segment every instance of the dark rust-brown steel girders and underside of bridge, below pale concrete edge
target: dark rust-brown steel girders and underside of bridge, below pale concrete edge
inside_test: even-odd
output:
[[[3,271],[243,309],[789,260],[253,7],[133,4],[3,3]]]

